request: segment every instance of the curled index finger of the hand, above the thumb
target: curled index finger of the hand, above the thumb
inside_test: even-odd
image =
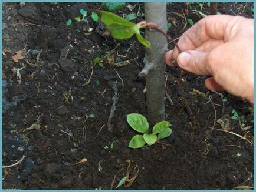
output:
[[[195,50],[204,42],[209,41],[209,39],[228,41],[232,32],[232,26],[240,18],[230,15],[206,16],[183,33],[177,44],[183,52],[186,50]],[[176,60],[178,55],[179,51],[175,47],[172,58]]]

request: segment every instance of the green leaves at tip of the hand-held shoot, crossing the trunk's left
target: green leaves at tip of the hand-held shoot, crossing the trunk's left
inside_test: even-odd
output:
[[[106,25],[107,30],[111,33],[113,38],[128,39],[135,34],[137,40],[142,43],[142,45],[150,48],[150,42],[140,35],[140,25],[127,21],[108,11],[96,10],[96,12],[99,13],[101,21]]]

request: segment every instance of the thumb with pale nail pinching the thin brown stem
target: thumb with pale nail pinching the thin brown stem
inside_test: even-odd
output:
[[[209,59],[209,52],[189,50],[178,55],[177,63],[180,68],[197,75],[213,75],[212,60]]]

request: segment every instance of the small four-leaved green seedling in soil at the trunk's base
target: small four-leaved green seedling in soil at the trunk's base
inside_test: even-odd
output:
[[[157,140],[163,139],[172,134],[172,129],[169,128],[170,123],[167,121],[156,123],[153,127],[152,133],[149,134],[149,123],[147,122],[147,119],[138,113],[128,114],[127,122],[137,132],[144,133],[143,135],[138,134],[130,140],[130,148],[140,148],[146,143],[149,146],[152,146],[152,144],[154,144]]]

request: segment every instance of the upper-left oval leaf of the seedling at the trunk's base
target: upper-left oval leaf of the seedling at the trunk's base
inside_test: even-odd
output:
[[[146,133],[149,130],[147,119],[138,113],[127,114],[128,124],[137,132]]]

